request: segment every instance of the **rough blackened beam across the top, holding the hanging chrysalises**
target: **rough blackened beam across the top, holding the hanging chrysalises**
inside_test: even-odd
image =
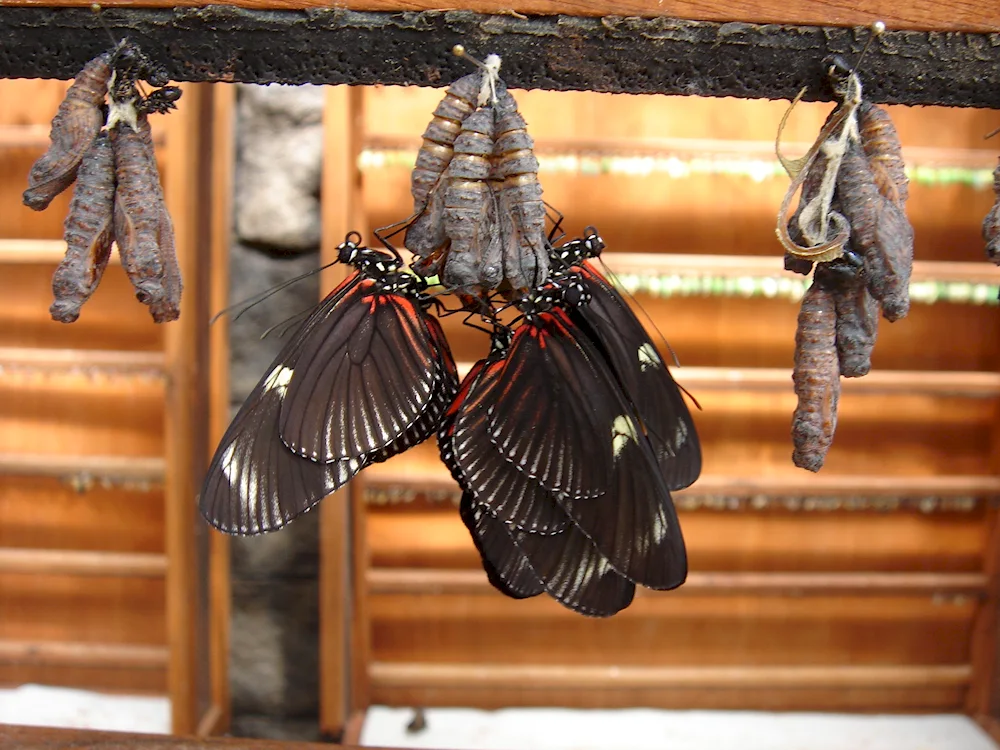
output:
[[[605,0],[567,5],[563,15],[553,14],[560,6],[527,0],[546,9],[532,17],[516,15],[516,3],[480,1],[495,2],[497,13],[420,12],[426,7],[420,3],[403,6],[413,13],[396,12],[401,6],[395,4],[357,11],[321,0],[268,2],[267,10],[259,9],[260,0],[248,0],[252,8],[179,8],[172,0],[147,0],[161,7],[105,6],[100,16],[83,3],[11,7],[0,15],[0,76],[72,78],[107,48],[110,32],[115,38],[127,34],[180,81],[444,86],[469,72],[468,63],[451,54],[461,40],[476,54],[504,57],[511,88],[791,99],[807,87],[807,99],[830,100],[820,61],[830,54],[858,59],[871,39],[869,25],[879,18],[845,15],[846,2],[804,0],[788,7],[814,7],[810,14],[782,14],[788,25],[777,26],[753,23],[772,16],[746,4],[722,6],[722,18],[704,21],[682,20],[683,13],[671,12],[676,5],[666,10],[670,3],[653,0],[641,0],[637,14]],[[788,10],[780,0],[766,1]],[[878,1],[872,7],[896,7]],[[925,3],[927,10],[912,18],[886,12],[889,31],[865,56],[867,97],[1000,108],[1000,62],[989,36],[998,30],[997,13],[984,5]],[[304,14],[306,6],[311,12]],[[586,8],[609,14],[583,17]],[[665,17],[642,17],[654,8]],[[61,54],[42,54],[56,47]],[[308,65],[302,64],[305,55]]]

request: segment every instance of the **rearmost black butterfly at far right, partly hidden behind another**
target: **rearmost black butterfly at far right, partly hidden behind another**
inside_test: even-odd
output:
[[[653,444],[671,490],[693,484],[701,474],[701,444],[681,389],[649,334],[608,280],[587,259],[604,242],[592,228],[585,239],[553,251],[554,260],[579,276],[588,304],[569,305],[570,319],[583,329],[610,364]]]

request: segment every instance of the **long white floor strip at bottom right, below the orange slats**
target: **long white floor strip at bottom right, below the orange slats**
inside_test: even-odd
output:
[[[751,711],[368,709],[361,744],[437,750],[997,750],[965,716]]]

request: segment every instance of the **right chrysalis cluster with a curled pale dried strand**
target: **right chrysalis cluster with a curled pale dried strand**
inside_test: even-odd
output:
[[[913,266],[896,130],[883,109],[864,100],[853,70],[837,58],[824,65],[839,104],[803,159],[782,158],[793,180],[777,228],[788,270],[808,274],[815,265],[799,313],[792,375],[798,397],[792,459],[810,471],[822,468],[833,443],[841,376],[871,369],[879,309],[889,321],[909,311]]]

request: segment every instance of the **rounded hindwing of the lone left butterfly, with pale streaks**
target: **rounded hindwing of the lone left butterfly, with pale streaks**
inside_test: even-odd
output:
[[[285,445],[316,461],[386,448],[427,408],[441,356],[426,314],[363,279],[313,325],[281,407]],[[449,355],[450,356],[450,355]]]

